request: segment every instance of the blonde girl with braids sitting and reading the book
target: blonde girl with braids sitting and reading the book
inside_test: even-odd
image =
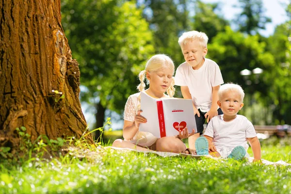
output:
[[[187,128],[183,129],[177,136],[162,138],[157,138],[149,132],[139,131],[139,125],[147,122],[146,118],[140,115],[142,112],[140,110],[141,92],[154,98],[173,97],[175,94],[174,69],[173,61],[164,54],[154,55],[147,61],[145,70],[139,74],[139,80],[141,81],[137,86],[139,93],[130,95],[125,105],[123,125],[124,140],[117,139],[113,142],[112,146],[140,151],[155,150],[194,154],[194,151],[187,149],[181,141],[181,139],[194,134],[189,134]],[[146,90],[145,78],[149,84]]]

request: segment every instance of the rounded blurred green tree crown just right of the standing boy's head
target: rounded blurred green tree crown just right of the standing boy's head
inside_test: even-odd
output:
[[[225,82],[232,81],[245,86],[240,71],[256,67],[265,69],[274,65],[273,56],[265,51],[266,44],[258,40],[259,36],[234,32],[227,26],[226,32],[220,32],[213,38],[207,56],[220,66]],[[255,82],[256,78],[249,79]]]

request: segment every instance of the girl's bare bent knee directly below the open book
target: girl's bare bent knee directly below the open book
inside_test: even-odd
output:
[[[174,136],[169,136],[162,137],[157,140],[156,150],[163,152],[184,153],[186,146],[180,139]]]

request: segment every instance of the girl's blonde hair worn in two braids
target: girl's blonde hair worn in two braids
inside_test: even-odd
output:
[[[146,84],[144,82],[145,78],[146,78],[146,72],[155,72],[155,71],[160,71],[163,68],[168,67],[171,70],[173,70],[173,74],[174,74],[174,70],[175,70],[175,66],[174,63],[172,61],[172,59],[165,55],[165,54],[157,54],[152,56],[147,62],[146,62],[146,68],[145,70],[141,71],[139,74],[139,80],[141,81],[141,83],[137,86],[137,89],[142,92],[145,90]],[[147,81],[148,83],[148,81]],[[172,78],[172,82],[170,84],[170,87],[167,89],[167,95],[169,95],[170,97],[173,97],[175,94],[175,81],[174,78]]]

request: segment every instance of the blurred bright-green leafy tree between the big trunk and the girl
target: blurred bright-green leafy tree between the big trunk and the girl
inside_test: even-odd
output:
[[[137,75],[153,53],[152,34],[135,2],[119,0],[64,0],[63,26],[80,61],[82,99],[97,107],[96,127],[103,126],[105,110],[121,113],[136,91]],[[98,137],[98,134],[97,134]]]

